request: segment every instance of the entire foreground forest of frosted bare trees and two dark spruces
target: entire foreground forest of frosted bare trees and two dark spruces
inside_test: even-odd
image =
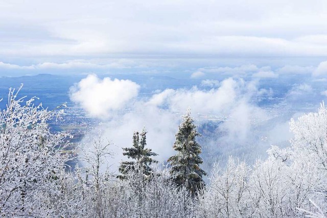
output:
[[[289,148],[271,146],[267,159],[237,157],[201,168],[197,126],[183,116],[167,164],[135,131],[118,174],[101,134],[66,151],[73,136],[50,131],[62,107],[49,111],[10,89],[0,111],[1,217],[326,217],[327,109],[290,120]],[[4,101],[4,100],[2,100]],[[149,130],[151,132],[151,130]],[[69,161],[76,161],[74,167]],[[210,175],[209,182],[203,176]]]

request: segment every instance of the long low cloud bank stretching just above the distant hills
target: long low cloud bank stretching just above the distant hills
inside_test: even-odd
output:
[[[207,60],[206,67],[198,68],[199,63],[192,59],[94,59],[69,60],[63,62],[41,62],[38,64],[13,64],[0,61],[0,76],[31,75],[40,73],[51,74],[143,74],[161,75],[174,78],[191,78],[202,80],[221,80],[226,77],[252,77],[258,79],[276,79],[279,76],[310,76],[321,79],[327,74],[327,61],[318,62],[316,66],[260,66],[242,64],[239,66],[215,66],[216,62]],[[193,63],[194,65],[191,65]]]

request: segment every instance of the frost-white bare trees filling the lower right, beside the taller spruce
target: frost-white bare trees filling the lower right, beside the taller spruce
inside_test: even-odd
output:
[[[291,120],[292,147],[272,146],[252,168],[229,159],[214,166],[200,217],[325,217],[327,110]]]

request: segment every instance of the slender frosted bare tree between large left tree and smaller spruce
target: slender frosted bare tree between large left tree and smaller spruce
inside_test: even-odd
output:
[[[81,147],[82,153],[79,159],[82,167],[76,167],[76,174],[86,202],[83,210],[88,217],[108,217],[110,202],[107,189],[110,188],[108,184],[113,180],[106,160],[112,155],[109,150],[110,143],[105,142],[100,134],[85,139]]]

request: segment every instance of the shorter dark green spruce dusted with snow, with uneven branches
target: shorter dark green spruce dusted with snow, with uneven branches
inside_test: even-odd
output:
[[[124,156],[128,158],[135,159],[135,161],[124,161],[119,167],[119,172],[122,175],[119,175],[118,178],[126,179],[127,174],[132,170],[135,171],[137,167],[141,166],[145,176],[150,176],[152,174],[152,169],[149,166],[152,163],[157,163],[157,160],[151,158],[151,156],[157,156],[158,154],[152,152],[151,149],[145,148],[147,145],[146,142],[147,131],[143,128],[141,133],[137,131],[133,134],[133,147],[132,148],[123,148],[125,151]],[[140,138],[141,137],[141,138]],[[136,167],[137,165],[137,167]]]

